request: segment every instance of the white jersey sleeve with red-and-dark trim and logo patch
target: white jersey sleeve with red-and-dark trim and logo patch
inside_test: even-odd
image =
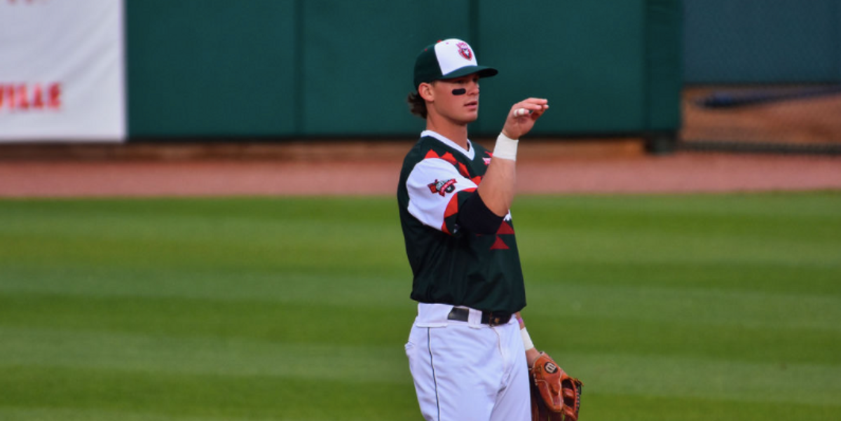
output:
[[[409,213],[434,229],[456,234],[459,204],[476,191],[476,183],[463,176],[452,163],[428,158],[412,169],[406,181]]]

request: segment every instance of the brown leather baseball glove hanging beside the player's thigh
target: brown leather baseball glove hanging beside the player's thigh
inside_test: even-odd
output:
[[[532,381],[532,421],[577,421],[581,406],[581,381],[567,376],[547,355],[529,369]]]

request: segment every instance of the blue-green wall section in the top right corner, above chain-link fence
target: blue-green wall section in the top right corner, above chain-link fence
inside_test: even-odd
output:
[[[841,83],[838,0],[685,1],[685,82]]]

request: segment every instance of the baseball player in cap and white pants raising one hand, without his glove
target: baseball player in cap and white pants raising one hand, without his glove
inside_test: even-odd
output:
[[[473,144],[479,79],[496,74],[460,39],[415,60],[409,103],[426,130],[405,157],[397,198],[418,302],[405,348],[427,420],[531,419],[528,366],[539,353],[519,315],[526,292],[509,208],[518,139],[548,104],[514,104],[493,153]]]

